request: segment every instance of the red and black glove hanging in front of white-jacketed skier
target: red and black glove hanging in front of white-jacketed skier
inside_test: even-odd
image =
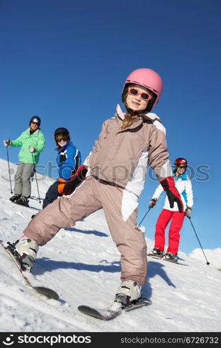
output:
[[[163,180],[160,180],[160,184],[162,185],[162,188],[167,193],[170,207],[173,208],[174,202],[176,202],[178,205],[178,211],[180,213],[182,213],[183,212],[183,202],[181,200],[180,194],[178,193],[178,191],[175,187],[174,177],[172,177],[172,176],[165,177]]]

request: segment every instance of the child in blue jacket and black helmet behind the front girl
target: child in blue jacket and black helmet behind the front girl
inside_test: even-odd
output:
[[[84,180],[87,171],[85,166],[81,166],[81,153],[70,141],[68,129],[63,127],[56,129],[54,140],[58,151],[56,163],[59,167],[59,179],[47,190],[43,201],[43,209],[59,196],[72,193],[79,182]],[[71,189],[67,190],[67,184]]]

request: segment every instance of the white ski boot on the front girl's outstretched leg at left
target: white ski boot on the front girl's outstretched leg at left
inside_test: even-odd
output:
[[[25,236],[13,244],[15,255],[19,258],[24,270],[31,271],[33,262],[36,260],[38,248],[38,244],[33,239]]]

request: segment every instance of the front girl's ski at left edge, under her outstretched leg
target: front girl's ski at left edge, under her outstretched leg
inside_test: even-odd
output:
[[[31,281],[25,275],[24,266],[22,265],[22,262],[19,260],[19,258],[15,254],[15,251],[13,251],[13,247],[11,246],[11,244],[8,243],[7,245],[2,240],[0,240],[0,244],[3,247],[3,249],[6,251],[6,253],[10,256],[10,258],[13,260],[13,262],[15,263],[15,266],[20,271],[20,274],[22,275],[22,278],[24,279],[24,282],[26,283],[26,285],[31,287],[31,289],[33,289],[34,291],[38,292],[38,294],[46,296],[47,299],[54,299],[54,300],[59,299],[59,295],[54,290],[49,289],[49,287],[31,285]]]

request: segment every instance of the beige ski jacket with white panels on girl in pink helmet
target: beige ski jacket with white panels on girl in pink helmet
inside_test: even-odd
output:
[[[158,179],[172,176],[165,127],[155,113],[142,114],[130,127],[121,129],[124,113],[102,125],[99,140],[89,156],[89,171],[98,180],[123,187],[138,197],[144,188],[147,165]]]

